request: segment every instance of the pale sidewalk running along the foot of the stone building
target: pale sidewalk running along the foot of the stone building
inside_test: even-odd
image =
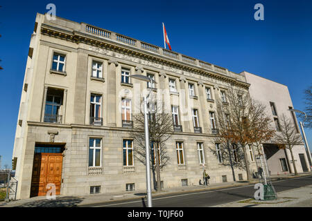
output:
[[[275,175],[271,176],[271,180],[284,180],[292,177],[300,177],[312,175],[310,173],[300,173],[299,175]],[[175,188],[167,188],[164,189],[160,193],[156,193],[153,191],[153,197],[157,195],[168,195],[172,193],[191,193],[196,191],[203,190],[214,190],[214,189],[222,189],[227,187],[234,186],[246,186],[249,184],[256,184],[259,182],[258,179],[252,180],[250,182],[242,181],[242,182],[226,182],[226,183],[218,183],[218,184],[209,184],[208,186],[204,185],[196,185],[196,186],[180,186]],[[87,206],[88,204],[97,204],[102,202],[118,202],[121,200],[131,200],[131,199],[139,199],[144,198],[146,193],[144,191],[131,191],[131,192],[118,192],[118,193],[102,193],[102,194],[94,194],[94,195],[81,195],[81,196],[56,196],[56,200],[47,200],[46,196],[40,196],[35,198],[29,198],[25,200],[16,200],[10,202],[0,202],[0,207],[14,207],[14,206],[26,206],[26,207],[55,207],[55,206]],[[309,194],[311,195],[311,194]],[[231,204],[232,205],[232,204]],[[241,203],[239,204],[241,205]]]

